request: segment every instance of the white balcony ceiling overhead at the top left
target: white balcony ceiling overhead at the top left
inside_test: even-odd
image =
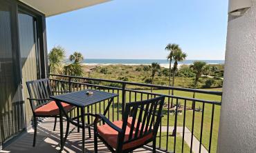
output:
[[[46,17],[94,6],[110,0],[19,0],[42,12]]]

